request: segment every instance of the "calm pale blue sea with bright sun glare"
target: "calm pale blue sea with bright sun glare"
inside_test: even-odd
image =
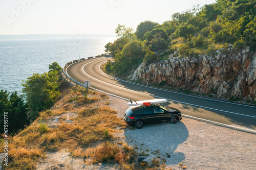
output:
[[[23,80],[33,73],[48,72],[56,61],[67,62],[104,53],[104,45],[115,37],[85,39],[0,40],[0,90],[22,94]]]

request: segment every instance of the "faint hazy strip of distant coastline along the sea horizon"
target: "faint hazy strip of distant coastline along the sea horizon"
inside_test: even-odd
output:
[[[115,37],[115,35],[100,34],[24,34],[24,35],[0,35],[0,41],[4,40],[43,40],[43,39],[74,39]]]

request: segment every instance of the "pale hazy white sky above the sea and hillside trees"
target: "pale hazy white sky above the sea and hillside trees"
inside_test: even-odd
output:
[[[0,0],[0,34],[115,34],[215,0]]]

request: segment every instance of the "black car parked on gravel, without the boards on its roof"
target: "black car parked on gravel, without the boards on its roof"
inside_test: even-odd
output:
[[[166,108],[157,104],[133,106],[124,113],[125,123],[135,126],[137,129],[141,129],[144,124],[153,124],[164,120],[169,120],[170,123],[176,124],[181,119],[181,112],[178,109]]]

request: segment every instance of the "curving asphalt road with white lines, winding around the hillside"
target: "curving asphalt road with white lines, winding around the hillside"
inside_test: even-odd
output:
[[[67,67],[67,74],[83,83],[91,81],[91,87],[132,101],[164,98],[165,106],[178,108],[182,114],[207,119],[221,124],[256,130],[256,107],[187,95],[155,87],[138,85],[104,74],[99,66],[108,58],[84,60]],[[129,108],[127,106],[127,108]]]

